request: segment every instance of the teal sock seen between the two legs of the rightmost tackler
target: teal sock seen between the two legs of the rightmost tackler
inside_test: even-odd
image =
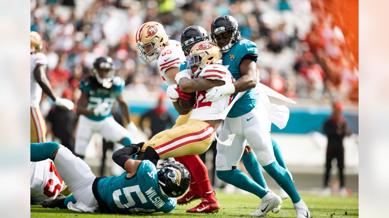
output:
[[[265,178],[263,178],[261,168],[259,166],[259,163],[254,155],[254,152],[251,152],[250,154],[247,154],[246,156],[242,156],[242,161],[244,164],[244,167],[246,168],[247,172],[249,172],[252,180],[254,182],[258,183],[263,188],[266,188],[267,184],[265,181]]]

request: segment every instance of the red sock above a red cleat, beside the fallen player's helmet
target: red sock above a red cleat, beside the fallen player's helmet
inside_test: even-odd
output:
[[[197,154],[174,157],[174,159],[184,164],[184,166],[189,170],[189,173],[191,174],[191,184],[189,189],[200,189],[202,194],[212,191],[207,167],[205,167],[205,164]]]

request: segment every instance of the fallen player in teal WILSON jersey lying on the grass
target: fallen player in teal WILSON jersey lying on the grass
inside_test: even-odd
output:
[[[112,155],[126,172],[118,176],[97,177],[88,164],[56,142],[31,143],[31,161],[53,160],[58,174],[73,195],[47,200],[45,208],[71,209],[88,213],[154,213],[172,211],[186,192],[190,174],[178,162],[165,161],[156,169],[150,161],[134,160],[129,154],[138,145],[125,146]]]

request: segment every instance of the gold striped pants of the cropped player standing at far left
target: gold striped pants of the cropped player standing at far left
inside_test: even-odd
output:
[[[46,124],[40,110],[35,107],[30,107],[30,142],[46,142]]]

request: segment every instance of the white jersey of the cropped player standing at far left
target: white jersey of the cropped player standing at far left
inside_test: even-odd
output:
[[[47,64],[47,57],[45,54],[37,52],[31,54],[31,62],[30,62],[30,67],[31,67],[31,79],[30,79],[30,106],[39,108],[39,102],[40,98],[42,97],[42,88],[40,88],[40,85],[37,83],[37,80],[35,80],[34,76],[34,69],[38,65],[41,64]]]

